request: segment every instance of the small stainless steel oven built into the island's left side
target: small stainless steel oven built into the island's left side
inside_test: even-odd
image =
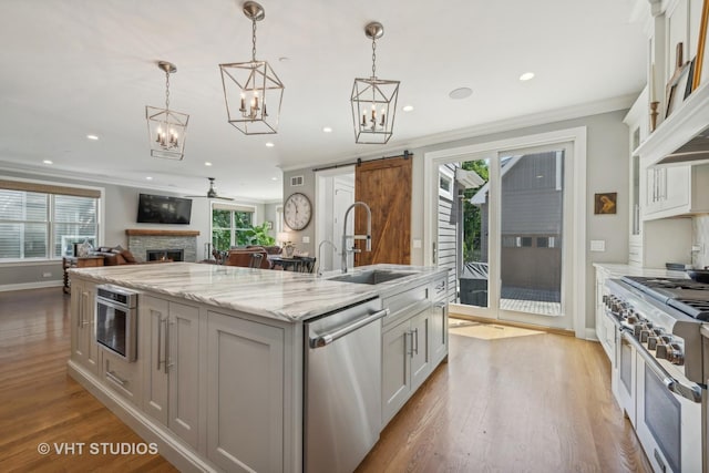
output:
[[[112,286],[96,286],[96,342],[135,361],[137,356],[137,292]]]

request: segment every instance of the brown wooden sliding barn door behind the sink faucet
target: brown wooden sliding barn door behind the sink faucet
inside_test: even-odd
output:
[[[409,155],[363,162],[354,171],[354,199],[372,210],[372,250],[357,240],[362,253],[354,255],[354,266],[411,263],[411,161]],[[357,235],[367,233],[367,210],[354,208]]]

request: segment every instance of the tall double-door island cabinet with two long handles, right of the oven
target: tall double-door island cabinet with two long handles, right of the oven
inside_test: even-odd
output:
[[[143,410],[194,448],[199,441],[199,308],[143,296]]]

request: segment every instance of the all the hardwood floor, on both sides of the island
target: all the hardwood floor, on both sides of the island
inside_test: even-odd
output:
[[[175,471],[160,455],[89,451],[143,441],[69,378],[69,342],[61,288],[0,292],[0,471]],[[358,472],[650,471],[598,343],[451,336],[449,359]],[[52,452],[40,454],[40,443]],[[73,454],[54,451],[71,443]]]

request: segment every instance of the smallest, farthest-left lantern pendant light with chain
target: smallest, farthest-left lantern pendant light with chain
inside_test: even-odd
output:
[[[181,161],[189,115],[169,110],[169,74],[177,72],[175,64],[160,61],[157,68],[165,72],[165,109],[145,106],[151,156]]]

